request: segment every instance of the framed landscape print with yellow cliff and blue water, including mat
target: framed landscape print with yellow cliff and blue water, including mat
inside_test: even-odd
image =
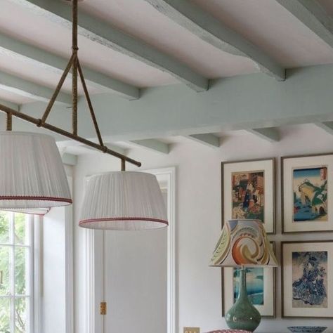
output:
[[[333,154],[282,157],[282,233],[333,230]]]

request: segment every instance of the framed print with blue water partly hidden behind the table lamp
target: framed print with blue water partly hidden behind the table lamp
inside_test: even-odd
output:
[[[275,242],[270,242],[275,252]],[[262,317],[275,318],[275,275],[276,268],[247,268],[247,295]],[[223,268],[222,273],[222,316],[225,309],[235,303],[240,286],[239,269]]]

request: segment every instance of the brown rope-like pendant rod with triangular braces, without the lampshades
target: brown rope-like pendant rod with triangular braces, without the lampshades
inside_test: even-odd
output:
[[[79,57],[77,55],[77,53],[79,51],[79,47],[77,45],[77,40],[78,40],[77,39],[77,28],[78,28],[77,1],[78,0],[72,0],[72,56],[68,62],[67,67],[65,68],[65,70],[63,72],[63,75],[60,78],[60,81],[58,82],[58,85],[53,93],[53,96],[51,97],[51,99],[46,107],[44,115],[41,117],[41,119],[37,119],[37,118],[31,117],[30,115],[25,115],[22,112],[13,110],[11,107],[6,107],[5,105],[0,104],[0,111],[6,112],[6,114],[7,114],[7,130],[11,131],[11,127],[12,127],[11,118],[12,118],[12,116],[14,116],[14,117],[23,119],[26,122],[35,124],[38,127],[44,127],[44,129],[48,129],[49,131],[53,131],[54,133],[58,133],[62,136],[66,136],[67,138],[70,138],[74,141],[79,141],[80,143],[84,143],[84,145],[89,145],[90,147],[95,148],[96,150],[100,150],[101,152],[105,152],[106,154],[109,154],[109,155],[112,155],[112,156],[115,156],[115,157],[121,159],[123,171],[125,170],[125,162],[129,162],[136,166],[141,166],[141,162],[138,162],[134,159],[126,157],[125,155],[119,154],[119,152],[115,152],[114,150],[110,150],[103,143],[103,138],[100,135],[100,129],[98,128],[98,123],[96,120],[95,112],[93,110],[93,105],[91,103],[91,98],[89,96],[89,92],[86,87],[86,81],[84,79],[84,74],[82,72],[81,65],[79,63]],[[67,74],[70,72],[71,68],[72,68],[72,102],[73,102],[72,103],[72,133],[46,123],[46,119],[51,112],[55,99],[57,98],[57,96],[60,92],[60,89],[63,86],[63,83],[65,82]],[[77,102],[79,99],[78,93],[77,93],[78,77],[81,79],[81,84],[84,89],[84,95],[86,96],[89,111],[91,114],[91,119],[93,121],[93,125],[95,127],[95,131],[96,131],[96,134],[98,137],[98,141],[100,143],[99,145],[97,143],[93,143],[92,141],[86,140],[85,138],[82,138],[81,136],[77,135]]]

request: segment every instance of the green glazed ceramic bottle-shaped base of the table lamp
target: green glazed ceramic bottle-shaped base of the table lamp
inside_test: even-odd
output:
[[[226,322],[230,329],[244,329],[254,332],[259,326],[261,315],[247,296],[246,268],[240,270],[240,292],[237,301],[226,313]]]

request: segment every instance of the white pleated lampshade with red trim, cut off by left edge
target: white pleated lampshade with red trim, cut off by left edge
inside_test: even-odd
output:
[[[55,140],[39,133],[0,131],[0,209],[71,204]]]

